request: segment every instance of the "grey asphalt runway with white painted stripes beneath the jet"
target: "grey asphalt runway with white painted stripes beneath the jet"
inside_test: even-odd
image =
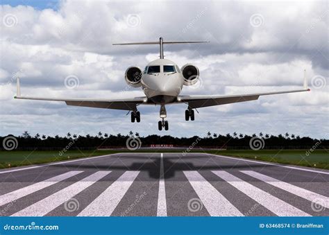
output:
[[[0,216],[329,216],[329,171],[119,153],[0,171]]]

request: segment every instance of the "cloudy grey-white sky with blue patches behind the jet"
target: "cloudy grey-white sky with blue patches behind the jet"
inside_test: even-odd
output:
[[[106,132],[204,136],[208,131],[329,133],[328,1],[1,1],[0,136]],[[124,71],[158,58],[158,46],[116,42],[209,40],[165,46],[180,67],[195,64],[201,82],[183,94],[220,95],[298,89],[307,70],[311,92],[199,109],[167,106],[169,131],[158,131],[159,107],[140,107],[141,123],[118,110],[61,102],[14,100],[22,95],[132,98]],[[65,80],[65,78],[67,78]],[[67,80],[76,83],[68,84]]]

